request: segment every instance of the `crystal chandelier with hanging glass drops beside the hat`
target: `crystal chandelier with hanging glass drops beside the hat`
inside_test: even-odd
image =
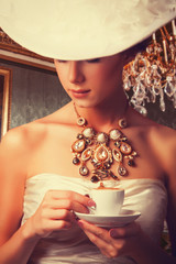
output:
[[[170,32],[163,26],[153,33],[152,43],[145,52],[138,53],[134,61],[123,68],[123,88],[134,109],[146,116],[145,103],[160,98],[160,108],[165,111],[165,96],[176,109],[176,25],[172,21]],[[158,34],[160,33],[160,34]]]

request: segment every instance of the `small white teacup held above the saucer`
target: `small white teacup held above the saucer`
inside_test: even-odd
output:
[[[90,212],[98,216],[114,216],[120,212],[124,200],[124,189],[97,188],[90,190],[90,197],[96,202],[96,208]]]

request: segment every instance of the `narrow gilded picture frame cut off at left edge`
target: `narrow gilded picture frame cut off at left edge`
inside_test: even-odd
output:
[[[0,67],[0,139],[10,128],[12,72]]]

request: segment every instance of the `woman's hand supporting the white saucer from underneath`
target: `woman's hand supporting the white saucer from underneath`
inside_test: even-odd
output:
[[[136,222],[111,230],[99,228],[84,220],[79,220],[78,224],[101,253],[112,258],[120,255],[131,255],[142,232]]]

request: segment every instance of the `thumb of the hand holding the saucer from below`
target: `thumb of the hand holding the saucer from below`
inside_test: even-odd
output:
[[[111,238],[113,239],[124,239],[129,237],[136,235],[140,232],[140,224],[132,222],[123,228],[116,228],[109,231]]]

